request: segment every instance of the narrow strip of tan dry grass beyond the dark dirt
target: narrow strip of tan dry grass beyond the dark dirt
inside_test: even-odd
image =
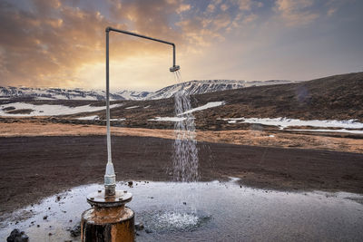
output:
[[[112,127],[115,136],[174,139],[173,130]],[[100,125],[63,124],[42,120],[0,122],[0,137],[105,135]],[[333,150],[363,153],[363,135],[280,131],[278,128],[238,131],[197,131],[197,140],[263,147]]]

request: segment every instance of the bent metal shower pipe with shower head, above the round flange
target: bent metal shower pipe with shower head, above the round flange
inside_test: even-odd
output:
[[[175,65],[175,44],[167,41],[163,41],[160,39],[155,39],[149,36],[145,36],[142,34],[135,34],[132,32],[115,29],[113,27],[106,28],[106,125],[107,125],[107,165],[106,172],[104,174],[104,188],[106,196],[113,196],[115,194],[116,187],[116,176],[114,174],[113,169],[113,160],[111,153],[111,131],[110,131],[110,66],[109,66],[109,34],[110,32],[117,32],[121,34],[128,34],[135,37],[140,37],[143,39],[148,39],[152,41],[156,41],[163,44],[172,45],[172,67],[170,68],[171,72],[176,72],[180,69],[179,65]]]

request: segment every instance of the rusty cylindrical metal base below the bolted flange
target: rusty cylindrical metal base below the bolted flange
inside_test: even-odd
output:
[[[81,237],[84,242],[134,241],[134,213],[121,207],[94,207],[82,214]]]

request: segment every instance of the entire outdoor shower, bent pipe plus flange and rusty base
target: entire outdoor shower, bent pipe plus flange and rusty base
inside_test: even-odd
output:
[[[110,66],[109,66],[109,35],[110,32],[128,34],[163,44],[172,45],[171,72],[180,70],[175,64],[175,44],[155,39],[142,34],[106,28],[106,126],[107,126],[107,164],[104,174],[104,191],[98,190],[87,196],[87,202],[93,206],[82,214],[83,241],[133,241],[134,213],[125,204],[132,200],[132,194],[126,190],[116,190],[116,175],[113,169],[110,131]],[[94,239],[97,240],[94,240]]]

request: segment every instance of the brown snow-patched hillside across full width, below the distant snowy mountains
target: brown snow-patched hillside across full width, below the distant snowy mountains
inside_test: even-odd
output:
[[[19,101],[22,100],[10,102]],[[9,101],[1,102],[4,104]],[[52,114],[51,117],[42,119],[52,122],[104,124],[103,101],[23,100],[23,102],[28,103],[27,108],[18,110],[17,106],[25,106],[25,104],[7,103],[2,105],[3,112],[6,115],[7,113],[22,115],[22,113],[31,113],[34,107],[38,108],[44,104],[62,106],[62,111],[64,111],[64,106],[65,108],[83,106],[87,109],[78,107],[81,110],[79,112],[71,111],[67,114],[64,111],[62,112],[64,116]],[[168,121],[169,118],[175,116],[173,98],[113,101],[112,103],[118,104],[113,106],[111,111],[115,126],[173,128],[174,122]],[[89,104],[91,106],[87,106]],[[200,130],[238,130],[250,127],[250,123],[231,121],[231,119],[241,118],[286,117],[303,121],[358,120],[363,122],[363,73],[341,74],[308,82],[251,86],[236,90],[196,94],[191,95],[191,104],[193,108],[199,107],[198,110],[193,111],[193,115],[196,118],[197,129]],[[46,108],[51,109],[48,106]],[[45,115],[43,111],[37,113],[38,116]],[[162,119],[154,121],[157,117],[162,117]],[[10,118],[3,119],[9,121]]]

